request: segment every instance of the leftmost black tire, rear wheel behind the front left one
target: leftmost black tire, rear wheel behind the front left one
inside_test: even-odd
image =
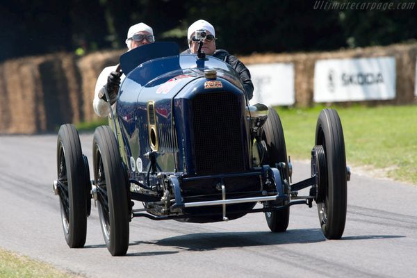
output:
[[[87,236],[88,206],[85,193],[90,182],[86,173],[79,134],[72,124],[63,124],[57,142],[58,195],[65,240],[81,248]]]

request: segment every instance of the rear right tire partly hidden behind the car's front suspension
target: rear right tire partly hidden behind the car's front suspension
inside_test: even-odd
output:
[[[269,108],[268,120],[263,124],[263,140],[268,149],[268,165],[276,167],[276,163],[280,162],[288,165],[284,130],[277,111],[272,108]],[[284,179],[287,181],[288,175],[288,167],[286,167]],[[282,206],[284,202],[268,202],[268,204]],[[284,232],[288,228],[290,220],[290,207],[288,206],[280,211],[265,212],[265,218],[271,231]]]

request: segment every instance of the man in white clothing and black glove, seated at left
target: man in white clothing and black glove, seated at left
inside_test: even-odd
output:
[[[129,49],[128,51],[130,51],[131,49],[153,43],[154,41],[154,31],[152,28],[140,22],[129,28],[125,42]],[[92,107],[100,117],[106,117],[110,113],[108,104],[106,103],[108,99],[106,99],[105,90],[110,97],[110,104],[113,105],[117,99],[120,82],[124,77],[124,74],[118,69],[118,65],[105,67],[100,73],[95,87],[94,101],[92,101]]]

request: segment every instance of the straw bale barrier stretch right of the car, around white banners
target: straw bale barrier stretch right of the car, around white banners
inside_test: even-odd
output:
[[[295,68],[295,106],[313,104],[314,65],[316,60],[342,58],[373,58],[393,56],[396,67],[396,97],[388,101],[361,101],[375,104],[416,104],[414,82],[416,76],[417,43],[393,44],[388,47],[366,47],[343,49],[332,52],[311,52],[298,54],[252,54],[240,57],[245,65],[262,63],[293,63]],[[279,89],[277,88],[277,93]],[[345,102],[349,105],[350,102]]]

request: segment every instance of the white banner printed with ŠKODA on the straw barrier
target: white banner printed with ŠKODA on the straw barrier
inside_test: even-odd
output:
[[[318,60],[314,101],[361,101],[395,97],[395,58]]]

